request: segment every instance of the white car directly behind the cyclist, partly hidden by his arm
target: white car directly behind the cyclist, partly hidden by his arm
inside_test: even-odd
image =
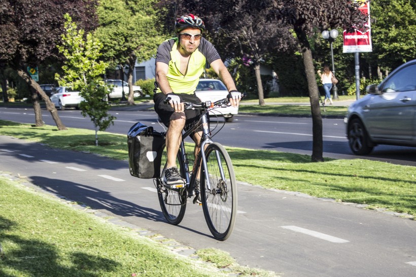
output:
[[[224,99],[228,95],[228,90],[217,79],[200,79],[198,86],[196,87],[195,95],[204,101],[217,101]],[[232,122],[233,116],[238,114],[238,107],[223,107],[210,111],[210,115],[223,116],[226,122]]]

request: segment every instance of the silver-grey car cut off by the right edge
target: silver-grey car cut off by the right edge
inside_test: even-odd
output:
[[[416,59],[397,67],[367,95],[352,103],[346,134],[356,155],[378,144],[416,147]]]

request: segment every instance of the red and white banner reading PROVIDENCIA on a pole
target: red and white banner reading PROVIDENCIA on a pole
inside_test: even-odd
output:
[[[354,32],[343,31],[344,45],[342,47],[343,53],[357,53],[357,52],[372,52],[371,46],[371,28],[370,28],[370,2],[365,1],[360,8],[358,8],[364,15],[368,16],[366,27],[367,30],[357,30]]]

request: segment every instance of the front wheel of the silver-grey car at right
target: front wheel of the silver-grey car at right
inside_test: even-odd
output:
[[[348,127],[348,144],[356,155],[367,155],[373,150],[364,124],[358,118],[353,119]]]

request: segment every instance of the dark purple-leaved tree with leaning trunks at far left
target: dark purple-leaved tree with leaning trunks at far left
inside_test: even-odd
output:
[[[39,84],[30,78],[27,66],[36,66],[47,59],[59,59],[56,44],[63,31],[63,14],[70,13],[84,28],[95,25],[96,0],[0,0],[0,66],[10,66],[33,91],[45,100],[59,130],[62,124],[55,106]],[[39,102],[35,114],[41,113]],[[36,125],[43,122],[36,117]]]

